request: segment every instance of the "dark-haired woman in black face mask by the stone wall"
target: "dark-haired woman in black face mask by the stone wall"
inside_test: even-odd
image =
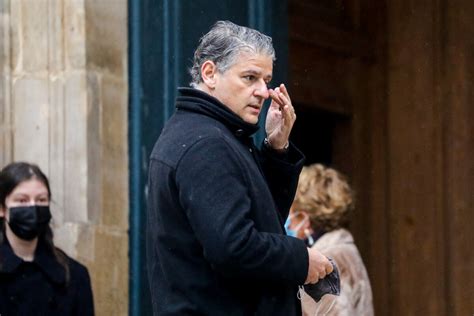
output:
[[[87,269],[54,246],[50,201],[38,166],[0,171],[0,315],[94,315]]]

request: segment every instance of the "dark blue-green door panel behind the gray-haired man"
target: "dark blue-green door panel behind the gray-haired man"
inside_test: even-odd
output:
[[[199,38],[217,20],[272,36],[275,82],[284,81],[286,0],[129,0],[130,315],[152,314],[145,262],[148,157],[174,111],[176,88],[189,84]]]

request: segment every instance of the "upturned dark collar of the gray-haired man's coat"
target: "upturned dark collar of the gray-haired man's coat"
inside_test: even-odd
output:
[[[249,137],[259,129],[257,124],[242,120],[226,105],[204,91],[193,88],[178,88],[176,108],[212,117],[232,131],[237,137]]]

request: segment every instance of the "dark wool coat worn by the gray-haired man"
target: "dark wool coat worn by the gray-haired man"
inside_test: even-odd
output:
[[[303,241],[286,236],[304,157],[254,146],[248,124],[181,88],[150,157],[147,268],[155,315],[300,315]]]

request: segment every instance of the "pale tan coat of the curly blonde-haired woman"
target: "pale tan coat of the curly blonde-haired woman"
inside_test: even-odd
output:
[[[309,295],[302,295],[303,315],[373,316],[369,277],[351,233],[345,229],[326,233],[313,247],[334,259],[341,276],[341,295],[325,295],[319,303]]]

